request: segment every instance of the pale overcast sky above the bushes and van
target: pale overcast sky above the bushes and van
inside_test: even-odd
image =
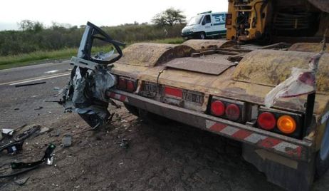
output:
[[[203,11],[227,11],[227,4],[227,0],[7,0],[0,3],[0,30],[17,29],[24,19],[46,26],[52,21],[77,26],[87,21],[98,26],[150,23],[155,14],[170,7],[181,9],[189,19]]]

